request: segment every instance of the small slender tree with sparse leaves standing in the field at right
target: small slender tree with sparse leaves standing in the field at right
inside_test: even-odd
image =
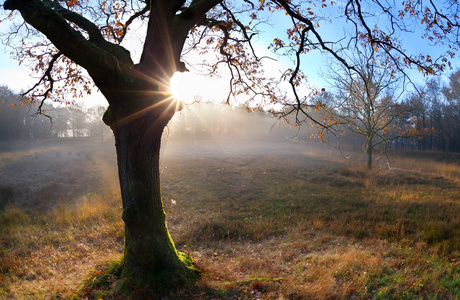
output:
[[[385,146],[398,135],[389,135],[396,119],[402,116],[396,108],[398,77],[375,59],[366,55],[355,58],[355,70],[331,66],[329,77],[335,86],[335,101],[328,111],[336,122],[365,138],[363,149],[367,154],[367,169],[372,169],[372,153],[376,146]],[[394,133],[394,132],[393,132]]]

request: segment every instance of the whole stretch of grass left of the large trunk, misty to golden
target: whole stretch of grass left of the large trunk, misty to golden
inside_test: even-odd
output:
[[[29,151],[27,168],[14,160],[4,169],[18,174],[3,189],[15,201],[0,207],[0,298],[71,298],[96,264],[120,256],[120,200],[113,167],[108,169],[113,157],[96,162],[68,144]],[[36,166],[47,175],[28,180]]]

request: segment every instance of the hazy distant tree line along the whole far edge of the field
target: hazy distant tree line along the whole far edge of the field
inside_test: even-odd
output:
[[[345,87],[342,87],[340,93],[322,93],[313,100],[329,107],[341,103],[334,116],[337,118],[339,113],[350,116],[350,103],[355,102],[348,101],[348,106],[343,105],[344,90]],[[394,91],[389,93],[386,90],[378,102],[384,107],[385,113],[377,116],[389,124],[385,130],[378,132],[384,138],[386,147],[460,152],[460,69],[449,76],[447,83],[440,78],[430,78],[418,87],[418,91],[408,93],[404,98],[396,95]],[[45,104],[43,110],[50,119],[42,115],[34,116],[36,105],[25,104],[24,101],[18,101],[19,98],[8,87],[0,86],[0,140],[84,136],[103,138],[111,134],[102,122],[104,107],[84,109],[80,105],[54,107]],[[366,105],[354,105],[358,110],[363,106]],[[372,110],[379,111],[379,107],[372,107]],[[324,116],[321,112],[313,111],[311,115],[318,120]],[[289,120],[286,121],[289,123]],[[366,136],[358,132],[366,126],[361,126],[359,122],[359,118],[348,124],[342,122],[336,128],[342,144],[366,144]],[[274,118],[265,111],[248,113],[243,106],[201,103],[186,106],[178,113],[168,124],[165,136],[309,140],[317,133],[314,127],[300,129],[294,126],[294,122],[291,123],[294,125],[283,123],[283,119]]]

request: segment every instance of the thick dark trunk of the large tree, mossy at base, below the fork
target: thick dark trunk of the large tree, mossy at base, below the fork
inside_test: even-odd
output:
[[[113,106],[110,109],[117,110]],[[111,124],[125,223],[122,283],[129,285],[130,289],[158,291],[197,277],[190,259],[178,253],[174,246],[161,199],[161,135],[173,114],[174,111],[168,113],[164,107],[146,107],[131,115],[117,117],[118,121]]]

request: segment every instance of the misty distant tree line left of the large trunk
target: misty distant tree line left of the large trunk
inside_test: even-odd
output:
[[[44,104],[45,115],[36,115],[37,104],[21,99],[6,86],[0,86],[0,141],[110,135],[102,122],[105,108],[81,105]]]

